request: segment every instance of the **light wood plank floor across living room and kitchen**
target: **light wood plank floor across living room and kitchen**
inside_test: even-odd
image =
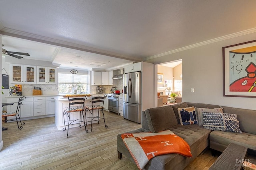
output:
[[[137,170],[137,166],[124,155],[119,160],[116,136],[141,127],[141,124],[123,119],[112,112],[104,112],[104,122],[93,124],[92,132],[84,127],[58,131],[54,117],[24,121],[19,130],[16,122],[3,123],[8,127],[2,131],[4,147],[0,151],[1,170]],[[89,128],[88,128],[89,129]],[[186,170],[208,170],[216,160],[206,150]]]

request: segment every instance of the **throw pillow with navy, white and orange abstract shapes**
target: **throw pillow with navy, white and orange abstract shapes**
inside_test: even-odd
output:
[[[181,125],[198,124],[195,107],[178,108]]]

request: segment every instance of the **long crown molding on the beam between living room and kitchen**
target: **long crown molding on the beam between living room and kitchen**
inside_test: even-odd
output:
[[[89,53],[106,55],[109,57],[115,57],[115,58],[134,61],[134,62],[142,61],[142,60],[134,58],[134,57],[119,55],[116,53],[112,53],[110,51],[104,51],[104,50],[96,49],[93,47],[88,47],[88,46],[84,46],[84,45],[80,45],[80,44],[76,44],[76,43],[62,41],[59,39],[53,39],[53,38],[49,38],[49,37],[45,37],[45,36],[41,36],[41,35],[18,31],[15,29],[10,29],[10,28],[4,27],[3,29],[0,29],[0,30],[1,30],[0,33],[2,35],[8,35],[8,36],[17,37],[17,38],[21,38],[21,39],[27,39],[27,40],[31,40],[31,41],[37,41],[40,43],[46,43],[46,44],[54,45],[57,47],[65,47],[65,48],[76,49],[76,50],[80,50],[80,51],[86,51]]]

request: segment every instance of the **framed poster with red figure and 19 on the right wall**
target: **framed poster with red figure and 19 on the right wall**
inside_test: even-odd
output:
[[[222,48],[223,96],[256,98],[256,40]]]

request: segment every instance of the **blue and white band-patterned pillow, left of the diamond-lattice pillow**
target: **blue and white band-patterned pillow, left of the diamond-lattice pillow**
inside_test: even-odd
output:
[[[203,127],[212,131],[225,131],[225,122],[222,113],[203,112]]]

